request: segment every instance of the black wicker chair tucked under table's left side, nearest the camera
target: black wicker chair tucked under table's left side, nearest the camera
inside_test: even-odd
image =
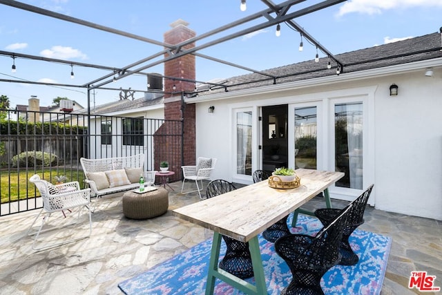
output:
[[[236,187],[227,180],[212,180],[206,187],[206,198],[219,196],[222,193],[235,190]],[[240,242],[229,236],[222,235],[227,249],[224,258],[220,262],[220,269],[237,276],[238,278],[251,278],[253,276],[253,265],[249,242]]]

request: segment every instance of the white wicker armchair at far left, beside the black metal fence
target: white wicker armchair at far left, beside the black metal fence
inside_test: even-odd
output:
[[[75,242],[77,240],[88,238],[90,236],[92,232],[92,218],[90,216],[90,189],[80,189],[79,183],[77,181],[54,185],[51,184],[50,182],[47,182],[46,180],[41,180],[39,175],[37,174],[32,175],[29,181],[35,184],[35,187],[37,187],[37,189],[39,190],[39,193],[43,200],[43,208],[35,218],[34,222],[32,222],[32,225],[30,225],[27,233],[29,236],[35,235],[34,242],[32,243],[32,249],[35,250],[49,249],[59,245],[67,244],[69,242]],[[68,240],[64,240],[62,242],[52,243],[50,245],[45,245],[41,247],[35,247],[39,234],[51,230],[47,229],[45,231],[41,231],[45,222],[49,219],[50,214],[60,211],[64,214],[64,210],[70,211],[71,209],[77,208],[78,209],[77,223],[78,223],[81,207],[86,207],[89,213],[89,234],[87,236],[71,238]],[[32,231],[32,227],[39,218],[41,212],[43,211],[45,211],[46,215],[41,221],[41,225],[38,231],[30,232]]]

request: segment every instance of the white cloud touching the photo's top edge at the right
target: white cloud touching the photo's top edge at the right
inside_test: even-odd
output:
[[[347,13],[359,12],[367,15],[380,15],[383,10],[392,8],[442,7],[441,0],[349,0],[340,6],[338,17]]]

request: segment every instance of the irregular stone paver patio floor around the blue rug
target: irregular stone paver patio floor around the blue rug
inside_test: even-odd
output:
[[[212,237],[212,231],[171,213],[200,200],[198,193],[179,193],[181,183],[171,184],[175,191],[169,193],[169,211],[149,220],[125,218],[122,193],[102,198],[96,203],[90,238],[45,251],[32,250],[32,238],[26,236],[38,210],[0,217],[0,294],[122,294],[122,280]],[[332,202],[334,207],[347,203]],[[323,207],[318,197],[307,204],[309,209],[318,207]],[[51,219],[68,222],[71,217],[55,214]],[[82,218],[80,229],[57,231],[51,237],[84,234],[86,214]],[[442,221],[367,207],[361,229],[393,238],[381,294],[419,293],[407,288],[414,270],[436,276],[434,285],[442,287]]]

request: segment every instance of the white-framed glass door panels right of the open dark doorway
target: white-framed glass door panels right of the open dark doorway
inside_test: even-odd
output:
[[[289,105],[289,166],[341,171],[332,191],[355,196],[364,189],[367,108],[363,98],[323,99]]]

